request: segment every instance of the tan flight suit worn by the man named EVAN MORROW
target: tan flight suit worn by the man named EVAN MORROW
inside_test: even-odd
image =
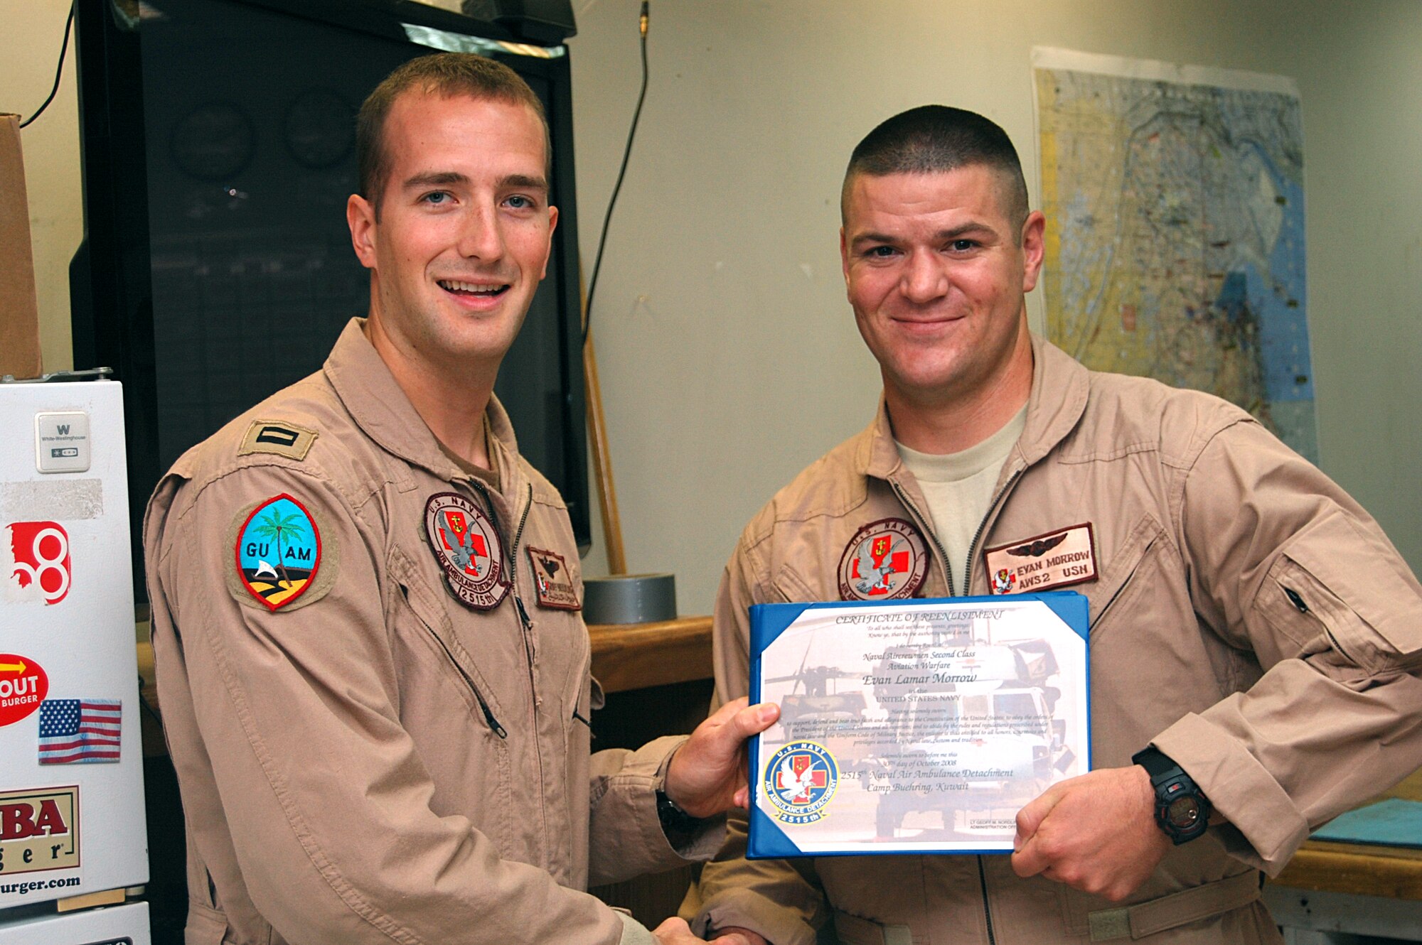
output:
[[[1092,766],[1155,743],[1229,824],[1172,847],[1129,908],[1005,855],[747,861],[744,819],[683,914],[809,945],[1277,942],[1258,902],[1311,827],[1422,763],[1422,588],[1376,523],[1243,411],[1089,372],[1034,340],[1027,428],[968,561],[946,563],[883,409],[751,520],[715,607],[717,698],[747,692],[757,603],[839,600],[862,526],[913,522],[933,557],[990,593],[984,550],[1092,526]],[[1297,604],[1291,600],[1297,598]],[[1173,898],[1172,898],[1173,897]]]

